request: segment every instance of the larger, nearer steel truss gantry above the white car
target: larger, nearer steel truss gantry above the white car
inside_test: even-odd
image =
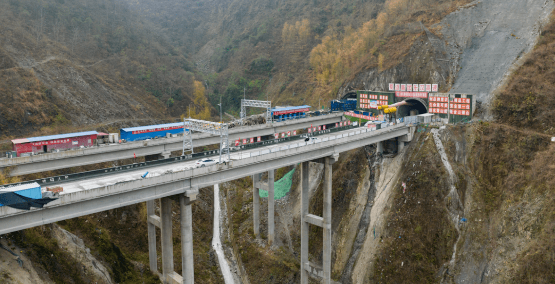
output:
[[[191,130],[210,133],[215,135],[220,135],[220,163],[221,163],[221,156],[227,156],[225,161],[230,161],[230,152],[229,152],[229,132],[228,132],[228,124],[227,123],[217,123],[212,121],[206,120],[199,120],[188,118],[183,120],[183,128],[189,129],[189,138],[184,134],[183,135],[183,153],[185,153],[185,145],[190,144],[191,153],[193,153],[193,140],[191,139]],[[189,140],[189,141],[186,141]],[[187,148],[189,149],[189,148]]]

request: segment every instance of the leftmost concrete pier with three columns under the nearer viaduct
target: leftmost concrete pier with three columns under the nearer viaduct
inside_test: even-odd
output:
[[[196,200],[198,189],[186,190],[183,195],[174,195],[160,199],[160,216],[154,213],[154,200],[147,201],[148,215],[148,248],[150,270],[157,273],[164,284],[194,283],[193,267],[193,218],[191,204]],[[181,222],[181,268],[183,276],[174,271],[173,236],[171,222],[171,201],[178,201],[180,205]],[[162,241],[162,274],[157,265],[156,231],[160,228]]]

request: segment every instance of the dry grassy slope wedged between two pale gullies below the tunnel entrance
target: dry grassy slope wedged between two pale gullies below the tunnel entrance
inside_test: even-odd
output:
[[[411,142],[400,181],[394,185],[385,231],[376,230],[380,249],[372,283],[433,283],[452,255],[457,232],[445,207],[447,175],[432,134]]]

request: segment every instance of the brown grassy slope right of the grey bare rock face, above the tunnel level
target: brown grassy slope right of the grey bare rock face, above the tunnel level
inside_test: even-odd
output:
[[[524,64],[498,95],[495,114],[501,123],[555,134],[555,13]]]

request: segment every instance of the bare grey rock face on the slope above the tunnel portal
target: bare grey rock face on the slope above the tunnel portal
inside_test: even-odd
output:
[[[450,93],[477,94],[478,102],[490,105],[554,7],[550,0],[480,0],[445,17],[441,33],[457,77]]]

